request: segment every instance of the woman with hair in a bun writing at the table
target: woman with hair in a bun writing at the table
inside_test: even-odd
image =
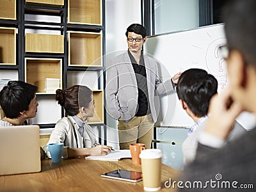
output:
[[[87,118],[94,113],[90,88],[74,85],[65,90],[58,89],[56,100],[65,109],[67,117],[56,123],[47,144],[64,143],[63,158],[102,156],[111,152],[112,147],[97,144],[95,132],[86,124]]]

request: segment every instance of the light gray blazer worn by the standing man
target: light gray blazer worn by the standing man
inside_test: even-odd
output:
[[[147,74],[148,101],[154,122],[157,120],[154,95],[173,92],[170,80],[161,83],[157,63],[144,54]],[[116,56],[106,70],[106,106],[109,115],[117,120],[129,122],[138,107],[138,88],[136,76],[128,52]]]

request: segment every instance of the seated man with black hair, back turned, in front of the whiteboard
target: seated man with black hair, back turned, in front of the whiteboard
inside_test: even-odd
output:
[[[191,80],[193,79],[193,80]],[[195,159],[198,135],[204,130],[207,123],[209,103],[213,95],[217,93],[218,81],[200,68],[190,68],[183,72],[177,84],[177,94],[182,108],[194,120],[195,124],[188,131],[188,138],[182,145],[184,164]],[[246,130],[235,123],[228,141],[234,140]]]

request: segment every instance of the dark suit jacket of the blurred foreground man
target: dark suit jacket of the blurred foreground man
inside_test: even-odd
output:
[[[211,180],[216,188],[211,187]],[[202,186],[207,182],[207,188],[184,188],[179,191],[256,191],[256,129],[220,149],[199,143],[196,159],[184,168],[182,181],[201,181]],[[228,182],[230,188],[226,188]],[[252,188],[250,184],[254,189],[243,189]]]

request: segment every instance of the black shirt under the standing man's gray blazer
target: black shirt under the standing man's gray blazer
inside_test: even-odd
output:
[[[140,65],[136,63],[129,50],[128,54],[132,63],[138,86],[138,111],[134,116],[144,116],[148,113],[148,87],[143,52],[141,52]]]

